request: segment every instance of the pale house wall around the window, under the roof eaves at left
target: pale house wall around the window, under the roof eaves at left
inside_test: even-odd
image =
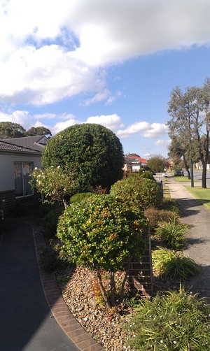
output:
[[[34,167],[41,168],[40,155],[0,154],[0,192],[15,189],[14,162],[34,162]]]

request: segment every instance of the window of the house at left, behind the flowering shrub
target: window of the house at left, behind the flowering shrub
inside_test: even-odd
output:
[[[33,195],[29,185],[29,173],[34,169],[34,162],[14,162],[15,196]]]

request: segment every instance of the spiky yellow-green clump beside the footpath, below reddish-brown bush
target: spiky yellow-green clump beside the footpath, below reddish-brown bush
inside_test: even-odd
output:
[[[155,238],[162,241],[167,248],[183,250],[188,241],[188,224],[177,222],[176,217],[168,222],[159,222],[155,228]]]

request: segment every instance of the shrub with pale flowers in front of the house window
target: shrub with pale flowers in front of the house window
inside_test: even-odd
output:
[[[72,176],[64,172],[60,166],[37,169],[31,173],[30,184],[36,186],[38,192],[45,194],[45,201],[59,201],[64,203],[66,208],[66,196],[73,194],[76,182]]]

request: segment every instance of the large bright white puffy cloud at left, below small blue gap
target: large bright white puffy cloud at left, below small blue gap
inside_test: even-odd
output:
[[[1,100],[41,106],[80,92],[94,92],[104,86],[97,73],[58,45],[20,48],[6,63],[0,62]]]

